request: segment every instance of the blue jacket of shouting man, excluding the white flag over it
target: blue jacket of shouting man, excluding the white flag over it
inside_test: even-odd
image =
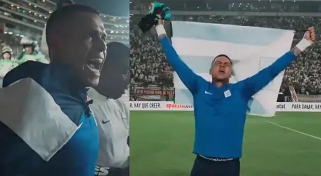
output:
[[[75,76],[66,66],[34,61],[27,61],[8,72],[3,87],[28,77],[50,93],[77,126],[82,125],[47,162],[0,122],[0,176],[94,176],[98,130],[91,113],[89,117],[85,116],[87,89],[77,88]]]

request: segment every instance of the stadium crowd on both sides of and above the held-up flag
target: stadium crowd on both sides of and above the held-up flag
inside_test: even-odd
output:
[[[141,16],[130,19],[130,83],[139,87],[158,85],[173,87],[173,71],[161,51],[155,32],[142,33],[136,27]],[[204,23],[233,24],[277,29],[297,29],[314,26],[320,36],[320,18],[285,16],[173,16],[173,20]],[[167,25],[168,26],[168,25]],[[292,45],[303,37],[304,32],[295,33]],[[317,40],[318,41],[318,40]],[[321,42],[304,52],[285,71],[280,91],[289,95],[289,86],[299,94],[321,94]]]

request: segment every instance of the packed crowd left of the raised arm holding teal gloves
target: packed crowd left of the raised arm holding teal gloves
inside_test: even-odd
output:
[[[173,87],[173,70],[164,60],[155,31],[142,33],[139,19],[130,21],[130,84]]]

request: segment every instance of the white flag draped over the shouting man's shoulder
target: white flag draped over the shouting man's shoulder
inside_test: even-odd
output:
[[[0,110],[0,123],[45,161],[49,161],[81,126],[73,123],[32,78],[0,88]]]

